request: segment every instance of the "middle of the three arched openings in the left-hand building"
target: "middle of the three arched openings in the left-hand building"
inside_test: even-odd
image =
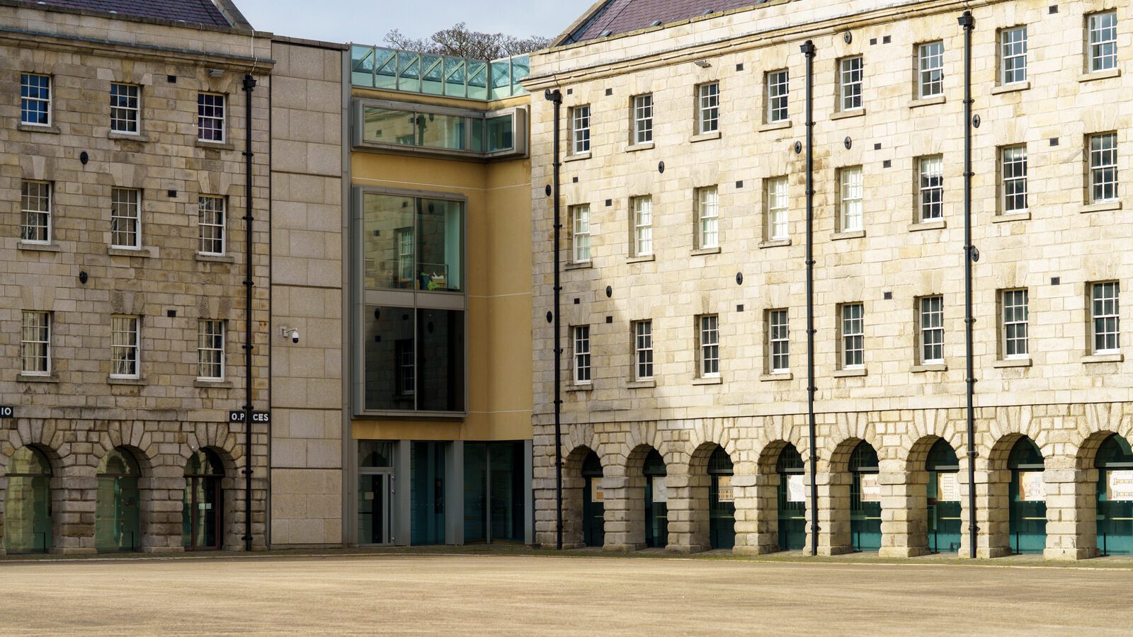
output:
[[[116,447],[99,465],[94,547],[100,553],[137,551],[142,545],[142,469],[129,450]]]

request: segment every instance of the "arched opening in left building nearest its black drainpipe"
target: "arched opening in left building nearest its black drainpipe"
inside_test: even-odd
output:
[[[185,466],[181,545],[186,551],[224,544],[224,465],[215,452],[201,449]]]

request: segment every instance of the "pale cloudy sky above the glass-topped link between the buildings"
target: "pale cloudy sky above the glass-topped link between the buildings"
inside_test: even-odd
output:
[[[465,22],[476,31],[509,35],[562,33],[593,0],[235,0],[259,31],[276,35],[381,44],[397,28],[424,37]]]

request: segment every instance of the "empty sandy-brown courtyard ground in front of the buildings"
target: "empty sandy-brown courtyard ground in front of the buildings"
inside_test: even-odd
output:
[[[0,634],[1128,635],[1133,571],[539,555],[0,562]]]

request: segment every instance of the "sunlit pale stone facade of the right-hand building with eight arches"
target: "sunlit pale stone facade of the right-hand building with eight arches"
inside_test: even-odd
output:
[[[1107,543],[1125,541],[1125,530],[1099,535],[1099,507],[1109,504],[1099,502],[1098,451],[1117,445],[1128,460],[1133,436],[1131,363],[1118,328],[1130,305],[1116,301],[1133,274],[1122,247],[1130,235],[1127,6],[777,0],[619,31],[603,15],[608,5],[534,56],[526,83],[536,95],[560,91],[563,105],[565,544],[655,544],[656,504],[664,503],[661,545],[671,551],[729,541],[736,552],[777,551],[789,543],[785,509],[793,506],[796,518],[806,510],[795,532],[811,521],[799,493],[809,495],[817,462],[819,553],[868,549],[863,537],[876,533],[872,547],[883,555],[968,555],[974,462],[980,557],[1119,552]],[[974,457],[964,408],[957,18],[965,10],[974,18],[980,117],[972,130]],[[608,26],[590,33],[596,24]],[[815,449],[807,41],[816,48]],[[553,201],[544,192],[554,130],[552,103],[533,100],[535,493],[544,545],[554,545],[556,525],[554,334],[545,318]],[[801,478],[784,468],[790,447]],[[937,450],[954,459],[932,465]],[[645,472],[653,451],[664,462],[659,482]],[[598,472],[587,462],[594,457]],[[780,487],[784,481],[791,489]],[[1101,482],[1121,501],[1114,483]],[[954,515],[940,515],[946,502]],[[597,529],[587,519],[594,515]],[[734,540],[721,541],[730,516]],[[955,542],[934,547],[930,530],[943,518]]]

